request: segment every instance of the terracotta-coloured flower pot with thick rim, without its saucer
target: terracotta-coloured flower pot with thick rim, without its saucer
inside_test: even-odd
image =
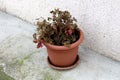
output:
[[[70,47],[56,46],[49,43],[43,42],[47,47],[48,57],[50,62],[59,67],[71,66],[78,55],[79,44],[83,41],[83,32],[80,30],[80,38],[75,43],[71,44]]]

